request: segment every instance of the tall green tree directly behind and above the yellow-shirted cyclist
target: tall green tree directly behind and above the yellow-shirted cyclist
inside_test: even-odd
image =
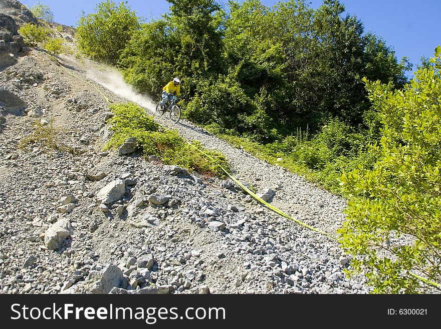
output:
[[[212,0],[170,1],[170,14],[134,33],[119,61],[127,81],[157,97],[174,76],[194,96],[199,79],[216,76],[222,65],[222,31]]]

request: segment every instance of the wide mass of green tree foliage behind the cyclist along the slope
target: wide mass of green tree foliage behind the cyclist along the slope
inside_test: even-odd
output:
[[[228,12],[214,0],[168,2],[169,14],[141,26],[122,3],[99,4],[80,20],[80,47],[119,66],[130,84],[155,98],[179,76],[184,115],[196,122],[271,142],[273,129],[308,122],[317,130],[330,116],[365,124],[364,76],[396,88],[405,82],[406,62],[364,34],[356,17],[343,17],[337,0],[317,10],[305,0],[273,8],[247,0],[229,2]],[[109,42],[116,27],[125,31],[122,43]]]

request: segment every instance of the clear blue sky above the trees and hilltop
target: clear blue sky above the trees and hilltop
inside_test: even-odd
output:
[[[21,0],[32,7],[36,0]],[[40,0],[48,5],[55,16],[55,22],[75,26],[82,10],[86,14],[94,12],[96,0]],[[115,2],[120,2],[115,0]],[[227,0],[223,0],[228,3]],[[441,0],[341,0],[346,13],[357,16],[364,23],[365,32],[374,32],[382,37],[386,44],[396,52],[398,60],[409,57],[412,64],[419,63],[421,56],[433,57],[433,49],[441,44],[439,13]],[[128,0],[128,6],[138,16],[158,18],[168,11],[169,3],[165,0]],[[262,0],[272,7],[277,1]],[[322,0],[310,0],[311,7],[317,8]],[[415,66],[414,66],[415,69]]]

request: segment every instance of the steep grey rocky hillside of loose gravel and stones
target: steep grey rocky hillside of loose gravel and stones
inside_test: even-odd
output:
[[[75,49],[73,42],[65,38]],[[345,278],[350,259],[335,241],[261,206],[231,180],[103,152],[103,96],[153,115],[153,103],[118,79],[98,63],[41,49],[0,70],[2,293],[369,291],[363,278]],[[222,151],[238,179],[283,211],[331,234],[343,221],[343,199],[190,122],[156,119]]]

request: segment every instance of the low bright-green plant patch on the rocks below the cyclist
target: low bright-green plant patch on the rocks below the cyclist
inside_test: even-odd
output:
[[[145,157],[157,155],[166,164],[178,165],[208,176],[223,176],[219,165],[228,168],[225,156],[217,151],[193,145],[209,155],[206,157],[189,145],[176,131],[168,130],[148,116],[144,109],[134,103],[111,106],[114,116],[107,122],[113,135],[105,149],[115,149],[134,137]]]

